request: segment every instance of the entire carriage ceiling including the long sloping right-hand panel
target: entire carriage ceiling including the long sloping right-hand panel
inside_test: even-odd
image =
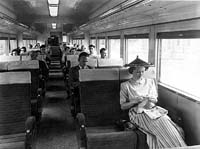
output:
[[[42,34],[96,33],[200,17],[200,0],[60,0],[57,17],[49,15],[47,0],[0,0],[0,12],[2,6],[16,18],[11,14],[14,23],[9,23],[0,13],[0,30],[15,29],[16,20]],[[56,30],[52,23],[57,23]],[[22,30],[23,26],[18,26]]]

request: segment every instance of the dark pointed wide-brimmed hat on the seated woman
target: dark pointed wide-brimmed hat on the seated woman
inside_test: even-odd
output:
[[[151,63],[147,63],[147,62],[141,60],[137,56],[135,60],[133,60],[132,62],[130,62],[129,64],[127,64],[125,66],[129,67],[129,73],[132,73],[133,70],[138,66],[144,66],[146,69],[148,69],[149,67],[152,67],[153,65]]]

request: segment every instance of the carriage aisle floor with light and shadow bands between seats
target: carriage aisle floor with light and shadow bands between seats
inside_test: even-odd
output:
[[[38,129],[35,149],[77,149],[75,124],[66,99],[64,80],[59,61],[50,67],[46,98]]]

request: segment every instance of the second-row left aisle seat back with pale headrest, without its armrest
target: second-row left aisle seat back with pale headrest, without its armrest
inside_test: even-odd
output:
[[[38,60],[9,62],[8,71],[30,71],[31,72],[31,99],[34,99],[37,97],[37,89],[39,88],[39,62]]]

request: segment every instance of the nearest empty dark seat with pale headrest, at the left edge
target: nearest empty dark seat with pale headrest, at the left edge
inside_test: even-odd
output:
[[[31,149],[36,133],[31,72],[0,72],[0,149]]]

